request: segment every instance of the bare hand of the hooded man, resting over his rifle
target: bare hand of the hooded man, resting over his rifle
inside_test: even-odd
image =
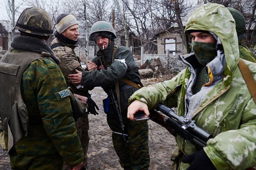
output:
[[[149,117],[150,113],[148,110],[148,106],[143,102],[134,100],[128,107],[127,118],[134,121],[134,114],[139,110],[143,111]]]

